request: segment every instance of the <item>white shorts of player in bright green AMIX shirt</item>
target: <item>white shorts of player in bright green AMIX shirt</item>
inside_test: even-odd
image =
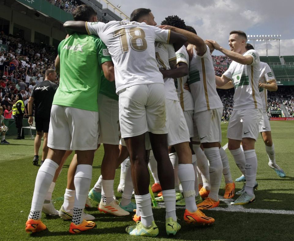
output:
[[[52,105],[47,146],[58,150],[96,150],[99,115],[62,105]]]

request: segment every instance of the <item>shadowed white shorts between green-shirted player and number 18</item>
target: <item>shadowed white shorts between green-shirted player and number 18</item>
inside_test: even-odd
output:
[[[118,145],[120,139],[119,102],[98,94],[99,143]]]

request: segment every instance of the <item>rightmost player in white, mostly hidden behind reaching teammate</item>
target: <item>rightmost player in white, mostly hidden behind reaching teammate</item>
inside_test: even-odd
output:
[[[254,49],[254,47],[247,43],[246,50]],[[266,145],[266,153],[269,157],[269,167],[272,168],[279,177],[285,177],[286,174],[280,166],[277,165],[275,159],[275,148],[273,145],[272,134],[269,125],[269,118],[267,115],[267,91],[277,91],[278,86],[276,79],[270,69],[269,65],[260,62],[260,75],[259,75],[259,95],[262,100],[263,114],[259,122],[259,132],[261,133],[264,144]],[[238,177],[236,181],[246,181],[245,176]]]

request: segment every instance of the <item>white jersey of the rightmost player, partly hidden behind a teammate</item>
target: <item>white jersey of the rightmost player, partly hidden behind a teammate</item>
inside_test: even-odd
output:
[[[259,82],[267,84],[276,80],[269,65],[265,62],[260,62]],[[263,112],[267,111],[267,89],[259,88],[259,95],[262,100]]]

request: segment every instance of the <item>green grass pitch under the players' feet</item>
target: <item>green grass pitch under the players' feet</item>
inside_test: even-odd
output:
[[[70,222],[59,217],[42,216],[47,230],[36,234],[25,233],[25,222],[28,218],[34,183],[38,166],[32,165],[34,141],[13,140],[7,138],[10,145],[0,146],[0,240],[225,240],[225,241],[280,241],[294,240],[294,123],[291,121],[271,121],[273,142],[276,150],[276,159],[286,172],[287,177],[280,178],[268,166],[268,157],[265,152],[262,138],[256,142],[258,157],[258,190],[255,191],[256,202],[243,206],[242,211],[228,211],[228,205],[221,201],[221,210],[205,210],[207,216],[214,217],[215,223],[211,226],[187,225],[183,222],[183,209],[177,209],[177,216],[182,229],[176,236],[168,237],[165,233],[165,211],[163,208],[153,209],[156,224],[160,233],[157,238],[143,238],[129,236],[125,232],[127,225],[134,222],[130,216],[114,217],[98,213],[97,204],[87,210],[96,217],[96,227],[81,235],[71,235],[68,232]],[[222,124],[224,146],[227,124]],[[226,150],[230,162],[232,177],[235,180],[240,172]],[[41,153],[41,152],[40,152]],[[63,202],[66,188],[66,174],[71,160],[70,156],[56,182],[52,198],[56,201],[55,208],[59,209]],[[93,164],[92,186],[100,175],[100,165],[103,157],[103,148],[95,154]],[[115,177],[115,194],[118,199],[121,194],[116,192],[119,184],[120,170]],[[151,180],[152,182],[152,180]],[[152,182],[153,183],[153,182]],[[236,191],[243,183],[236,183]],[[220,187],[220,195],[224,194],[224,181]],[[246,212],[246,210],[248,212]],[[289,214],[281,210],[288,210]]]

